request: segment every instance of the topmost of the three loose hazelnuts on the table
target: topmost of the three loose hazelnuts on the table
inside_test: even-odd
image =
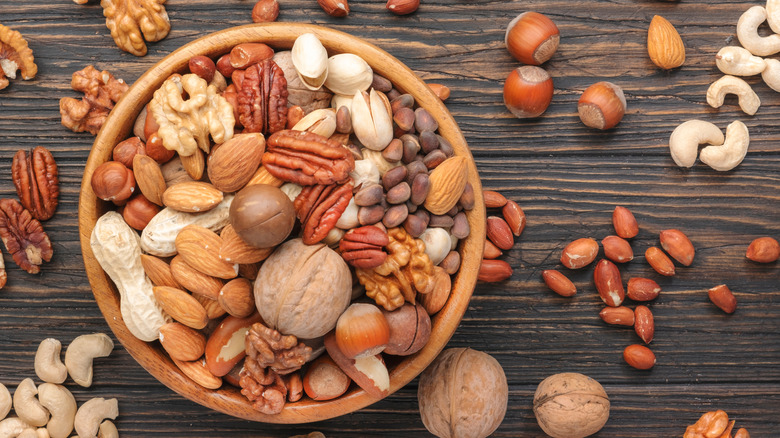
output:
[[[538,12],[523,12],[509,23],[504,42],[509,53],[523,64],[541,65],[558,50],[558,26]]]

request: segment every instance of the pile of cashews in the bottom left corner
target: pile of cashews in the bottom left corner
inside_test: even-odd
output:
[[[105,357],[114,343],[103,333],[77,337],[60,360],[60,341],[47,338],[35,354],[35,374],[44,383],[26,378],[14,390],[0,383],[0,438],[68,438],[75,429],[79,438],[117,438],[109,420],[119,415],[116,399],[93,398],[77,408],[73,394],[62,383],[68,375],[77,384],[92,385],[92,361]],[[13,406],[15,417],[7,417]],[[105,421],[104,421],[105,420]]]

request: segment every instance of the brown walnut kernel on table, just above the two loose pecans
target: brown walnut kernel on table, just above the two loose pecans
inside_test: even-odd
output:
[[[73,73],[70,86],[83,92],[84,97],[60,99],[62,124],[73,132],[88,131],[92,135],[97,135],[114,104],[129,88],[122,79],[91,65]]]

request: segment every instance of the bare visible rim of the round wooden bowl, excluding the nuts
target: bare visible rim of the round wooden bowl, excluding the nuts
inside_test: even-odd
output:
[[[399,358],[397,363],[390,364],[390,393],[409,383],[444,348],[466,311],[482,260],[485,208],[482,186],[474,160],[455,120],[422,80],[400,61],[376,46],[342,32],[297,23],[265,23],[235,27],[184,45],[141,76],[111,112],[95,139],[87,160],[79,201],[79,231],[87,276],[103,316],[130,355],[156,379],[190,400],[228,415],[268,423],[306,423],[324,420],[356,411],[378,399],[353,384],[350,390],[338,399],[316,402],[304,397],[296,403],[288,403],[283,412],[278,415],[265,415],[252,409],[239,390],[230,385],[224,385],[218,390],[207,390],[183,375],[159,342],[147,343],[135,338],[122,321],[119,294],[95,260],[89,244],[98,217],[114,207],[95,196],[90,181],[95,168],[111,159],[114,145],[131,135],[136,117],[143,106],[151,100],[154,91],[171,74],[185,71],[187,61],[191,57],[206,55],[216,59],[219,55],[229,52],[236,44],[244,42],[263,42],[275,49],[289,49],[299,35],[307,32],[317,35],[331,55],[342,52],[357,54],[365,59],[375,72],[391,80],[399,91],[413,95],[417,104],[426,108],[437,120],[439,133],[452,143],[455,153],[468,158],[468,176],[474,187],[476,204],[467,214],[471,235],[459,245],[462,264],[454,278],[452,294],[444,309],[433,318],[433,329],[428,344],[417,354]]]

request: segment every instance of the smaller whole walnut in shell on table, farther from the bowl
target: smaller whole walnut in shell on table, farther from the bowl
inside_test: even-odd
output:
[[[554,374],[536,388],[534,415],[553,438],[583,438],[609,418],[609,397],[601,384],[579,373]]]

